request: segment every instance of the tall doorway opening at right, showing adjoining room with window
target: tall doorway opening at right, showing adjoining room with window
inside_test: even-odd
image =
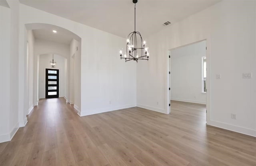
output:
[[[207,121],[206,40],[169,50],[169,102],[172,111],[185,111]]]

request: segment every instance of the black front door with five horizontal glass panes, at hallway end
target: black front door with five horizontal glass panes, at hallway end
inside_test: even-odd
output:
[[[59,70],[46,68],[45,71],[45,98],[58,98]]]

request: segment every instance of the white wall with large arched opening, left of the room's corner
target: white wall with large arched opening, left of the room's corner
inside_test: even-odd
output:
[[[20,18],[20,31],[27,23],[40,22],[63,27],[81,37],[81,116],[136,105],[137,64],[125,63],[118,57],[125,39],[23,4]],[[20,38],[24,38],[22,33]],[[24,42],[20,45],[23,53]],[[23,54],[20,57],[25,59]]]

